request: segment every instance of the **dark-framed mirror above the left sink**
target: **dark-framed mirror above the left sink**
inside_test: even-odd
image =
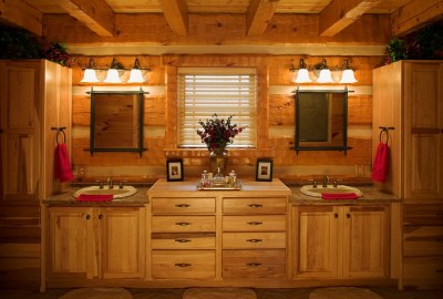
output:
[[[94,152],[142,152],[144,92],[91,89],[91,155]]]

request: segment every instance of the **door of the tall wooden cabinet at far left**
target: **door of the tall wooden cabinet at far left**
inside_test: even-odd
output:
[[[39,63],[0,62],[2,200],[39,198],[40,76]]]

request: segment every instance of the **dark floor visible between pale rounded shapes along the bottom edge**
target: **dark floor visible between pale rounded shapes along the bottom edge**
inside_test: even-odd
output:
[[[370,288],[383,299],[441,299],[443,290],[400,291],[395,288]],[[0,290],[2,299],[58,299],[70,289],[48,289],[47,292]],[[130,289],[134,299],[182,299],[185,289]],[[255,289],[257,299],[309,299],[312,289]],[[346,298],[343,298],[346,299]]]

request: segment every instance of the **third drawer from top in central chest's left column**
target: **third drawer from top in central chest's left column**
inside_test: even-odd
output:
[[[153,233],[153,249],[214,249],[215,233]]]

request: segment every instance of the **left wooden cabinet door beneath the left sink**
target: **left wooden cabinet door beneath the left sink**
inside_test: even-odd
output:
[[[48,275],[92,278],[94,260],[93,209],[91,207],[48,208]]]

